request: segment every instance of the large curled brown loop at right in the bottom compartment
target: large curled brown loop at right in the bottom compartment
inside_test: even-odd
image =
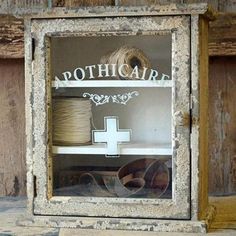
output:
[[[142,158],[122,166],[115,179],[119,197],[160,197],[169,185],[167,158]]]

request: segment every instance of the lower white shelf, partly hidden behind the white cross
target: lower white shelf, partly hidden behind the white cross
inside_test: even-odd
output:
[[[53,154],[106,154],[106,144],[53,146]],[[121,155],[172,155],[171,144],[120,144]]]

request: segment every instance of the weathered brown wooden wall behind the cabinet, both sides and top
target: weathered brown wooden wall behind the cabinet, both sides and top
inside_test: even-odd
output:
[[[209,193],[236,193],[235,0],[0,0],[0,196],[26,194],[23,15],[51,7],[208,2],[220,11],[211,23]]]

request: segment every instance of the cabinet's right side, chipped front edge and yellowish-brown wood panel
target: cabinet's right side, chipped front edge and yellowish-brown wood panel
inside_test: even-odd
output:
[[[192,53],[192,219],[208,206],[208,21],[191,18]]]

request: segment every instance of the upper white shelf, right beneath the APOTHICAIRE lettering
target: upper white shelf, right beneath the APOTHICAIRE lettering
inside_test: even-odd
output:
[[[172,80],[69,80],[69,81],[53,81],[54,88],[94,88],[94,87],[164,87],[171,88]]]

